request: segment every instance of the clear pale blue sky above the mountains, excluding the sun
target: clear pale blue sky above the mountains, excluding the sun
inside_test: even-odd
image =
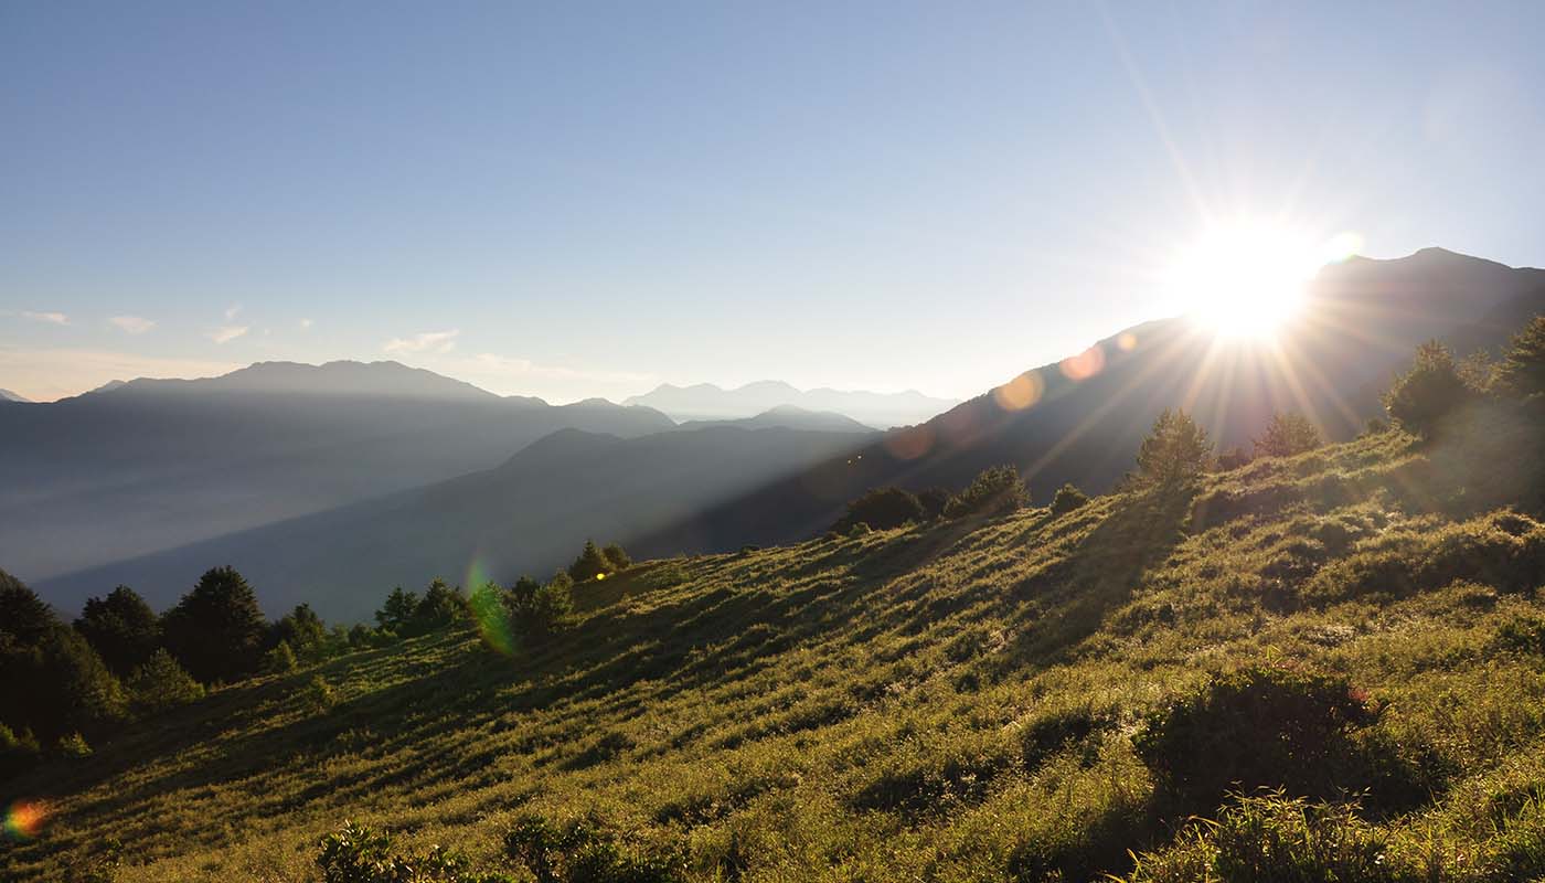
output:
[[[1545,3],[0,2],[0,387],[969,396],[1208,223],[1545,264]]]

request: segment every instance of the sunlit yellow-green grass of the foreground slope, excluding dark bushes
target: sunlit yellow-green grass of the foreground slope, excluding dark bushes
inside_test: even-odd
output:
[[[522,812],[684,846],[700,878],[1126,872],[1168,840],[1142,714],[1251,660],[1349,674],[1390,739],[1454,770],[1383,824],[1458,872],[1506,824],[1499,795],[1545,789],[1545,659],[1496,640],[1545,617],[1545,527],[1432,513],[1431,465],[1390,433],[1210,476],[1194,504],[643,564],[581,588],[589,612],[548,645],[357,653],[19,782],[57,812],[0,847],[0,877],[116,837],[121,880],[309,880],[345,818],[496,866]],[[649,588],[671,568],[688,580]],[[331,710],[301,699],[315,673]]]

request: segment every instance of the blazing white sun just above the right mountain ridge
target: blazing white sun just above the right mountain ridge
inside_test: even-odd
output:
[[[1244,220],[1208,229],[1168,272],[1170,297],[1221,337],[1270,337],[1304,305],[1309,281],[1360,243]]]

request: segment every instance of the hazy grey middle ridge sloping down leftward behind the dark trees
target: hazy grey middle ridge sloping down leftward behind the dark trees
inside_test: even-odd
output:
[[[162,609],[205,569],[232,564],[270,614],[309,602],[329,619],[368,620],[394,585],[552,574],[587,538],[678,523],[853,441],[850,430],[782,427],[630,439],[569,428],[494,469],[36,583],[65,611],[121,583]]]

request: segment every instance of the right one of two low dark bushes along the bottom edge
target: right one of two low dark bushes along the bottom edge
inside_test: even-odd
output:
[[[539,815],[516,820],[505,854],[538,883],[680,883],[680,849],[626,843],[595,818],[555,824]]]

